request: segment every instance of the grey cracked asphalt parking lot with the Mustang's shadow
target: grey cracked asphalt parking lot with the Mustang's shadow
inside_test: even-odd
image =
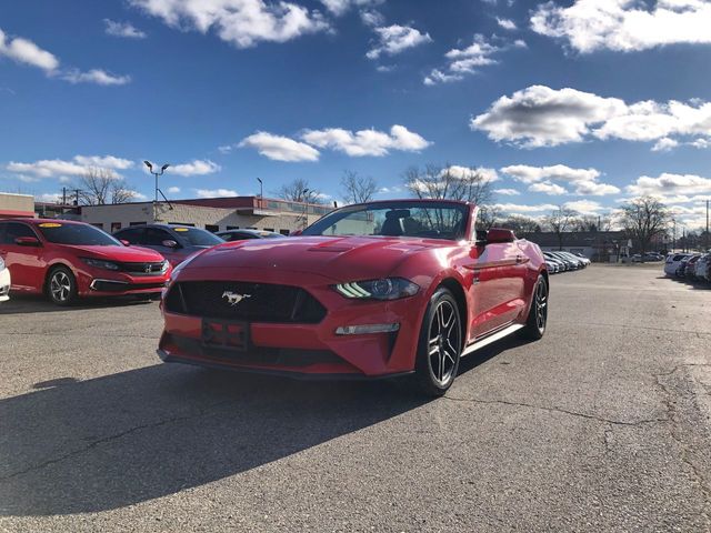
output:
[[[551,282],[448,395],[159,363],[158,304],[0,304],[0,531],[709,531],[711,290]]]

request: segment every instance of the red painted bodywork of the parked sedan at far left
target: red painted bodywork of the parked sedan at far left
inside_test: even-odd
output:
[[[162,262],[163,257],[154,252],[138,247],[102,247],[102,245],[72,245],[49,242],[38,224],[60,223],[60,224],[83,224],[83,222],[72,222],[67,220],[48,219],[7,219],[2,223],[17,222],[31,228],[40,247],[27,247],[12,243],[0,243],[0,254],[6,261],[10,274],[12,275],[12,291],[30,294],[41,294],[44,292],[44,283],[49,271],[56,265],[68,266],[77,279],[77,289],[80,296],[116,296],[129,294],[151,294],[161,292],[164,284],[170,279],[172,269],[168,269],[154,275],[139,274],[130,272],[118,272],[106,269],[93,268],[84,263],[81,258],[112,261],[117,263],[157,263]],[[101,291],[91,289],[94,280],[108,280],[127,283],[127,290]]]

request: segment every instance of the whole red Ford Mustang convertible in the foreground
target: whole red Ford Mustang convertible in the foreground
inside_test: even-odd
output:
[[[163,361],[308,378],[410,379],[443,394],[460,358],[519,331],[540,339],[537,244],[475,231],[474,205],[349,205],[300,237],[226,243],[178,266],[162,300]]]

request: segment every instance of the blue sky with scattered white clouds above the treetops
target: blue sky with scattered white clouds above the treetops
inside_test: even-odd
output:
[[[0,13],[0,190],[86,167],[144,195],[266,194],[344,170],[480,169],[507,212],[711,198],[705,0],[74,0]],[[387,189],[387,191],[385,191]]]

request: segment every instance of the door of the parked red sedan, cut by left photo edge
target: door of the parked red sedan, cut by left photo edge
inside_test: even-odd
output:
[[[38,290],[44,281],[43,247],[27,247],[17,244],[20,237],[33,237],[38,239],[34,230],[22,222],[3,222],[0,230],[0,255],[4,260],[12,286],[26,290]]]

